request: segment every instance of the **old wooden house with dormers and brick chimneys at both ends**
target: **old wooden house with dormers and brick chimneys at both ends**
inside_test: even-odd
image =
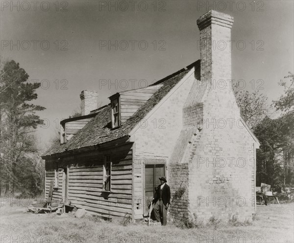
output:
[[[148,199],[166,176],[175,220],[196,214],[227,219],[255,213],[259,141],[240,116],[230,85],[233,18],[201,16],[200,60],[148,86],[116,93],[97,109],[84,90],[82,116],[61,122],[60,141],[43,155],[46,192],[104,217],[147,215]]]

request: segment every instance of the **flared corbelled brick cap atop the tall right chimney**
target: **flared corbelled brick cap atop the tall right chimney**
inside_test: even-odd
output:
[[[211,24],[218,24],[223,27],[232,28],[233,22],[234,18],[232,16],[210,10],[197,20],[197,25],[200,30]]]

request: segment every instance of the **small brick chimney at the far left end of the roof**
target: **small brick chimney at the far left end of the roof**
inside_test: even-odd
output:
[[[83,90],[80,94],[82,115],[90,114],[91,110],[98,109],[98,92]]]

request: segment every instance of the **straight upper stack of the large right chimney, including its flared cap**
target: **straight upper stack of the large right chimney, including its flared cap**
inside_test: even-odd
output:
[[[210,10],[197,20],[200,30],[200,79],[209,87],[231,79],[231,28],[234,18]],[[229,85],[229,83],[227,83]]]

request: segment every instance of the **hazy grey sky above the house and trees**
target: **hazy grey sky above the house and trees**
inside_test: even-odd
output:
[[[279,80],[294,70],[292,0],[1,0],[1,57],[20,63],[28,82],[41,82],[40,144],[78,109],[82,90],[97,90],[105,105],[116,92],[198,60],[196,20],[210,9],[234,17],[232,78],[277,99]]]

